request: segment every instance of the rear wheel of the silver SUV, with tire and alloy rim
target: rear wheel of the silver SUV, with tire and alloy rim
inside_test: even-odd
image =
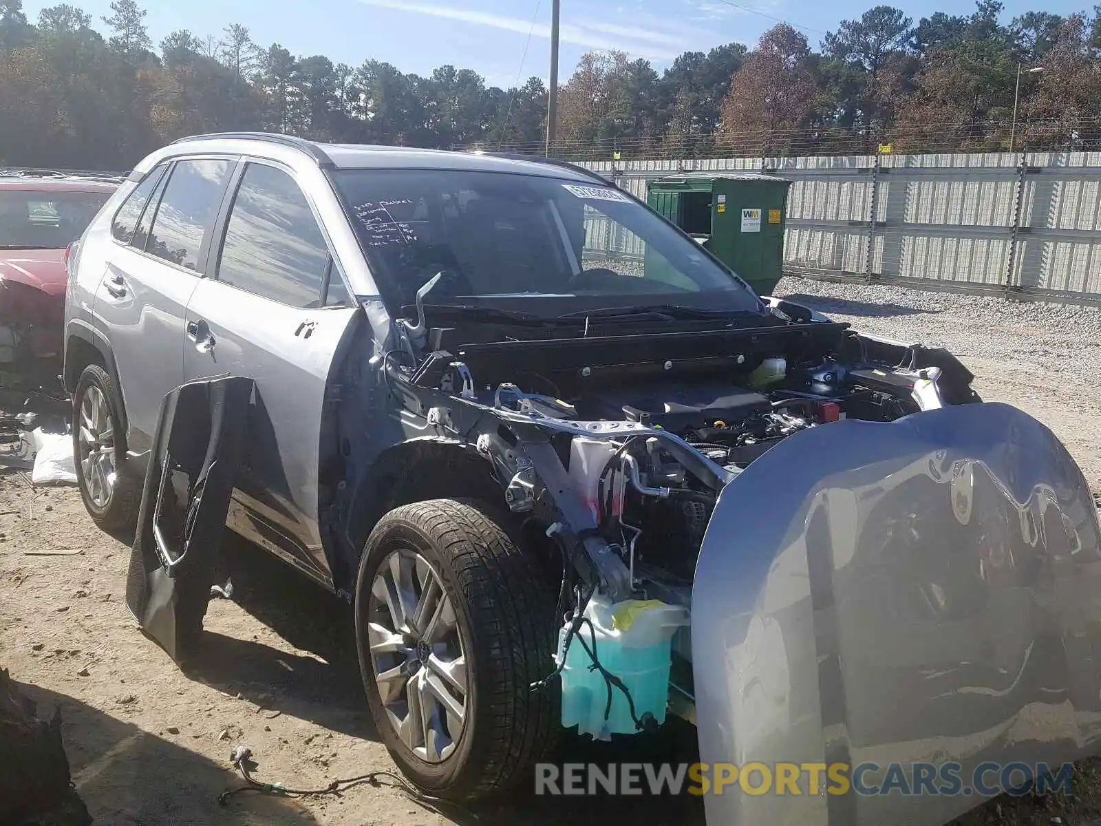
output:
[[[88,365],[84,369],[73,393],[73,459],[80,498],[92,521],[109,532],[132,531],[141,503],[141,479],[127,464],[122,417],[115,404],[117,398],[115,382],[99,365]],[[89,433],[89,414],[95,420],[99,409],[101,423],[95,427],[97,432]],[[109,430],[103,430],[108,426]],[[89,449],[90,444],[98,446]],[[103,472],[108,468],[111,470]],[[109,488],[106,494],[105,487]]]

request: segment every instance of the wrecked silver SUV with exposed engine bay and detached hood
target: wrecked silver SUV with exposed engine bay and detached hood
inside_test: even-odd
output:
[[[1045,631],[973,607],[1003,587],[982,561],[1023,541],[1022,480],[1055,491],[1038,520],[1098,548],[1054,436],[972,404],[942,349],[759,297],[585,170],[192,138],[138,165],[69,268],[92,519],[134,523],[166,395],[251,380],[226,523],[355,602],[378,730],[433,794],[530,783],[574,727],[698,715],[705,763],[750,741],[825,760],[839,720],[869,745],[966,743],[975,714],[1046,696],[995,653],[1027,659]],[[868,819],[974,803],[879,800]],[[789,801],[711,796],[708,816],[791,819]]]

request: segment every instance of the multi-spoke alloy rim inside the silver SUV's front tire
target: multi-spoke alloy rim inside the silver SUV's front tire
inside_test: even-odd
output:
[[[466,725],[468,672],[458,617],[439,574],[412,548],[391,552],[368,599],[371,667],[405,747],[439,763]]]

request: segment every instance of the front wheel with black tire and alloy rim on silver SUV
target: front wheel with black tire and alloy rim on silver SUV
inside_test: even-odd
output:
[[[371,715],[413,783],[473,800],[532,782],[557,741],[554,599],[488,509],[436,499],[384,515],[356,583]]]

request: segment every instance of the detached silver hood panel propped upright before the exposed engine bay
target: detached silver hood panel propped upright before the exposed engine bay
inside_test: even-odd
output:
[[[1054,769],[1099,750],[1097,510],[1007,405],[815,427],[723,490],[691,637],[704,762]],[[707,815],[918,826],[982,800],[728,790]]]

